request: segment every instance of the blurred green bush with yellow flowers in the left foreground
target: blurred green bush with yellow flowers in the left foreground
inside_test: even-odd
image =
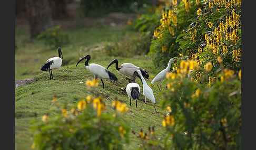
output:
[[[71,111],[65,106],[61,111],[61,104],[55,102],[57,104],[51,109],[53,115],[46,114],[42,120],[34,119],[31,122],[32,148],[123,149],[122,141],[129,143],[130,127],[123,121],[122,114],[114,111],[99,115],[94,101],[82,101],[86,103],[85,108],[78,103]]]

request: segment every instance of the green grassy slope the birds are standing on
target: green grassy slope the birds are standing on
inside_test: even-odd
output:
[[[34,78],[35,82],[27,85],[23,85],[15,90],[15,143],[16,149],[30,149],[32,145],[32,137],[29,135],[29,121],[33,119],[34,113],[38,114],[38,119],[45,114],[52,104],[52,98],[55,94],[58,101],[63,104],[67,104],[68,108],[76,104],[77,101],[84,99],[87,94],[102,95],[105,98],[107,104],[107,111],[111,111],[110,108],[112,101],[117,98],[127,105],[129,105],[129,99],[126,93],[122,93],[120,88],[123,88],[127,84],[127,80],[117,71],[114,66],[109,69],[116,74],[119,81],[112,83],[108,80],[104,80],[105,89],[102,89],[102,83],[99,83],[99,87],[93,92],[89,92],[88,88],[80,81],[85,82],[91,80],[93,75],[88,72],[84,67],[84,61],[77,67],[75,63],[82,56],[90,54],[92,59],[89,63],[99,63],[100,65],[107,67],[107,65],[114,59],[114,57],[107,56],[104,51],[89,51],[87,48],[95,47],[101,42],[111,40],[112,36],[121,36],[121,30],[115,30],[110,27],[95,27],[95,28],[82,28],[68,31],[71,37],[71,44],[63,47],[63,61],[66,65],[63,65],[60,69],[53,71],[53,77],[55,80],[48,80],[48,72],[42,72],[38,69],[42,66],[46,59],[56,56],[57,50],[49,50],[43,45],[41,41],[34,41],[33,43],[24,44],[26,38],[28,38],[28,31],[16,29],[16,43],[18,50],[16,51],[16,79]],[[129,33],[134,35],[134,33]],[[48,49],[48,50],[47,50]],[[133,58],[119,59],[120,63],[132,62],[136,66],[140,66],[149,71],[150,75],[154,76],[157,71],[153,67],[152,60],[145,58],[144,56],[135,56]],[[66,60],[65,60],[66,59]],[[33,64],[33,65],[32,65]],[[68,65],[67,65],[68,64]],[[121,64],[120,64],[121,65]],[[68,66],[68,68],[67,68]],[[154,72],[152,72],[154,71]],[[151,77],[152,77],[151,76]],[[150,85],[152,78],[147,80]],[[137,80],[137,83],[142,84]],[[147,101],[147,105],[142,110],[135,109],[135,102],[132,102],[132,108],[129,107],[129,111],[125,115],[125,119],[131,123],[131,130],[139,132],[140,128],[144,130],[147,127],[155,125],[156,130],[162,129],[162,116],[164,111],[161,111],[159,103],[161,98],[157,96],[159,92],[157,88],[153,88],[156,97],[156,109],[160,111],[159,114],[151,114],[153,112],[152,103]],[[141,94],[141,99],[144,99]],[[138,101],[138,105],[142,105],[143,101]],[[162,132],[160,131],[161,136]],[[133,134],[131,136],[131,144],[127,149],[137,146],[139,139]]]

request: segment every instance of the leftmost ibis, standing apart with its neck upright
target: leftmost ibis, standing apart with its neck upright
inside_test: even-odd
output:
[[[58,48],[58,57],[53,57],[48,59],[44,65],[41,67],[42,71],[49,71],[50,73],[50,80],[53,79],[53,69],[58,69],[62,65],[62,51],[61,48]]]

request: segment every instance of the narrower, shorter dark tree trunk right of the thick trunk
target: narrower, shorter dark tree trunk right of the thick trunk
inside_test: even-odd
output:
[[[52,8],[53,19],[63,19],[68,17],[64,0],[49,0],[49,2]]]

